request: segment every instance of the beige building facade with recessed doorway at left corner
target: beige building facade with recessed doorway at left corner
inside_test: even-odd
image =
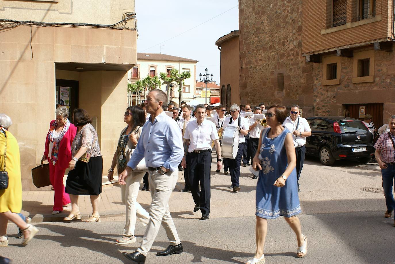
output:
[[[106,171],[136,64],[134,1],[3,0],[0,32],[0,112],[13,121],[23,189],[35,189],[30,170],[40,164],[58,105],[92,116]]]

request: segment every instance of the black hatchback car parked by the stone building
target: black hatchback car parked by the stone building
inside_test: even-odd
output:
[[[367,163],[374,152],[373,135],[361,120],[344,116],[306,118],[311,136],[306,139],[306,155],[320,158],[324,165],[339,159]]]

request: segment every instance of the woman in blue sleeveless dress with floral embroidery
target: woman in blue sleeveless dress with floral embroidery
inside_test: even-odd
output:
[[[307,253],[307,238],[302,234],[301,212],[296,180],[296,155],[291,132],[282,126],[287,117],[283,106],[272,105],[267,110],[267,128],[261,132],[258,151],[252,167],[260,170],[256,186],[256,254],[246,264],[263,264],[263,245],[267,234],[267,219],[284,216],[296,234],[297,257]]]

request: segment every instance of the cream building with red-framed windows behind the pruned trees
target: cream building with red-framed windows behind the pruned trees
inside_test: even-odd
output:
[[[129,82],[134,83],[150,75],[152,77],[159,76],[161,72],[167,73],[171,69],[178,69],[179,73],[189,71],[191,77],[184,81],[182,87],[182,100],[178,87],[174,86],[171,90],[170,100],[175,101],[177,105],[181,101],[190,102],[194,99],[196,91],[196,63],[197,60],[181,58],[160,53],[137,53],[137,64],[128,71]],[[166,84],[160,87],[161,90],[166,91]],[[140,101],[142,102],[148,94],[148,90],[143,91]],[[140,103],[140,102],[138,102]]]

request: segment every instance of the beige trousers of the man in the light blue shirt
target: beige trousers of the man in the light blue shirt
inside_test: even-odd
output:
[[[180,239],[169,212],[169,200],[178,179],[178,171],[169,171],[161,175],[158,171],[149,171],[149,187],[152,202],[150,205],[149,223],[143,237],[143,243],[137,249],[142,255],[147,255],[158,234],[160,225],[165,228],[171,245],[178,245]]]

